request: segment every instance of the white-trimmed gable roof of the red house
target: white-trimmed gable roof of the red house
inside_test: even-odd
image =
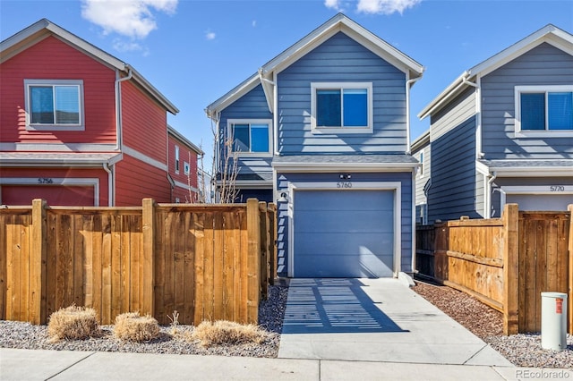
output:
[[[28,28],[19,31],[12,37],[4,39],[0,42],[0,63],[4,63],[14,55],[18,55],[27,48],[37,44],[39,41],[54,36],[66,44],[81,51],[85,55],[90,55],[93,59],[98,60],[110,67],[111,69],[123,72],[124,78],[128,77],[131,73],[132,79],[142,89],[147,91],[151,97],[155,98],[161,106],[164,106],[171,114],[177,114],[179,110],[175,107],[158,89],[155,89],[148,80],[137,72],[129,63],[124,63],[113,55],[91,45],[86,40],[70,33],[67,30],[56,25],[54,22],[47,19],[42,19],[30,25]]]

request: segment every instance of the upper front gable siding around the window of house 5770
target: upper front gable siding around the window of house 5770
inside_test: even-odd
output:
[[[485,158],[573,158],[573,138],[515,138],[515,86],[565,84],[573,84],[573,56],[547,43],[484,76]]]

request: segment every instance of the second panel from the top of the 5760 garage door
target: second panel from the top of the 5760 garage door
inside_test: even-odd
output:
[[[391,226],[392,211],[303,211],[296,210],[295,233],[360,233],[384,232]]]

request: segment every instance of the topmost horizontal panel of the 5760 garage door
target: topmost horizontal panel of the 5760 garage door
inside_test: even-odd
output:
[[[341,196],[341,193],[350,193],[350,196]],[[342,200],[342,202],[341,202]],[[391,191],[380,190],[326,190],[297,192],[295,196],[296,211],[308,210],[346,210],[360,211],[377,210],[392,211],[393,194]]]

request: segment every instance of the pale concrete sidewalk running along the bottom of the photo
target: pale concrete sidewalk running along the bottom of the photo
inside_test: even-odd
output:
[[[147,353],[0,349],[12,380],[517,380],[573,379],[564,369]]]

